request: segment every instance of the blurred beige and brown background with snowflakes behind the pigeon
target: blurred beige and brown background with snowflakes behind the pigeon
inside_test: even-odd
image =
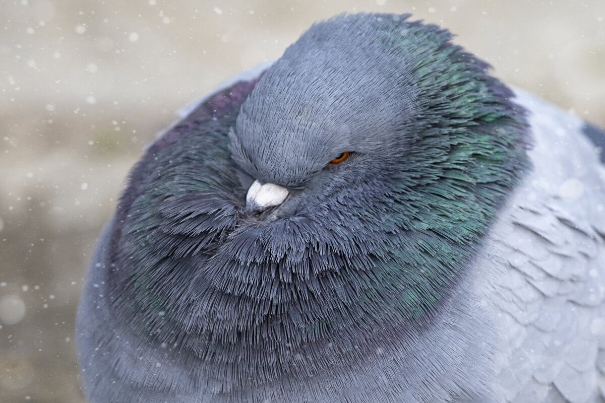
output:
[[[0,401],[83,402],[82,276],[129,167],[318,19],[413,13],[505,82],[605,125],[605,1],[0,0]]]

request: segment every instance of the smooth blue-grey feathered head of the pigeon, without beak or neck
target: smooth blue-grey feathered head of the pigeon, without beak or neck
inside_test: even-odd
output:
[[[339,21],[314,25],[286,50],[232,132],[238,166],[294,192],[273,219],[381,178],[398,165],[413,131],[416,87],[407,60],[388,48],[392,33],[379,20]],[[344,153],[346,161],[330,163]]]

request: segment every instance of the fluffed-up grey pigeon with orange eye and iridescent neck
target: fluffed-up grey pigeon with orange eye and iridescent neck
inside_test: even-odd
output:
[[[85,277],[88,401],[605,401],[605,133],[451,38],[317,22],[152,143]]]

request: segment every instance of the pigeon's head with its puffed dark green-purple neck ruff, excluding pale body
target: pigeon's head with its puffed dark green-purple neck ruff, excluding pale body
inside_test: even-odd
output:
[[[413,337],[528,166],[525,112],[450,39],[337,16],[175,126],[117,209],[117,317],[225,393]]]

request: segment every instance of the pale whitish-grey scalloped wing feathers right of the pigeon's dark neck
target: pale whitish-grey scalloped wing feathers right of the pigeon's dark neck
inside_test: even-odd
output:
[[[500,214],[475,285],[499,334],[507,402],[605,396],[605,169],[583,121],[517,90],[534,169]]]

